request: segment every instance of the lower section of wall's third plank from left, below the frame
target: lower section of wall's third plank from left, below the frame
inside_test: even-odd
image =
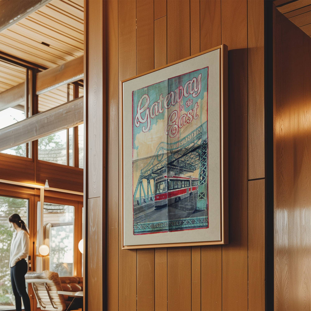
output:
[[[137,249],[137,311],[155,309],[155,250]]]

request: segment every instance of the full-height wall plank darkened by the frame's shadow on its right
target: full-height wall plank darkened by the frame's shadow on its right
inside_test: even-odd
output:
[[[248,309],[247,2],[221,2],[222,42],[228,45],[229,241],[223,246],[223,310]]]

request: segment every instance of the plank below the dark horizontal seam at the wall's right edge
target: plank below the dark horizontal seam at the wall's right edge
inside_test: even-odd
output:
[[[265,310],[265,180],[248,182],[248,310]]]

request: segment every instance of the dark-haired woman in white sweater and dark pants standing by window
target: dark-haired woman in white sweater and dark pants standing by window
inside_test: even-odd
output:
[[[9,217],[9,222],[16,230],[13,234],[10,253],[11,284],[15,296],[15,308],[16,311],[21,311],[22,298],[25,311],[30,311],[30,299],[25,282],[25,274],[28,270],[25,258],[29,253],[29,233],[25,222],[18,214],[12,214]]]

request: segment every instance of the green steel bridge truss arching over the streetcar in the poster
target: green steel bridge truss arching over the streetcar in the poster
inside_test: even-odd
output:
[[[207,189],[208,189],[208,138],[207,121],[196,128],[193,132],[180,139],[178,142],[161,142],[154,156],[149,163],[141,170],[133,200],[137,204],[154,201],[151,180],[169,172],[174,174],[187,174],[199,169],[197,210],[207,208]],[[147,191],[143,185],[143,179],[147,181]],[[150,194],[149,194],[150,190]],[[143,192],[143,197],[142,197]],[[137,196],[139,193],[139,197]]]

